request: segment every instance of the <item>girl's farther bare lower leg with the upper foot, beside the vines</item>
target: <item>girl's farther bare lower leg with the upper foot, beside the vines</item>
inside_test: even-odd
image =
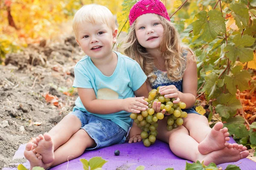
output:
[[[227,127],[222,129],[222,122],[210,128],[205,116],[189,113],[183,125],[189,130],[190,136],[199,143],[198,149],[202,154],[233,147],[233,144],[227,142],[230,140],[229,133]]]

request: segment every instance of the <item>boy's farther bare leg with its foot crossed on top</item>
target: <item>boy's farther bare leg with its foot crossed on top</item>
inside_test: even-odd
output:
[[[53,151],[66,143],[80,127],[80,119],[75,115],[68,114],[49,133],[36,137],[33,147],[37,153],[43,156],[44,163],[51,163],[54,160]]]

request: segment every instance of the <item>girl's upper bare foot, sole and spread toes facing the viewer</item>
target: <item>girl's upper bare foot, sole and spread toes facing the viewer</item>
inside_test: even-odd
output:
[[[227,142],[230,140],[227,127],[221,129],[222,127],[222,122],[216,123],[205,139],[199,143],[198,150],[201,154],[205,155],[215,150],[221,150],[224,147],[233,147],[233,144]]]

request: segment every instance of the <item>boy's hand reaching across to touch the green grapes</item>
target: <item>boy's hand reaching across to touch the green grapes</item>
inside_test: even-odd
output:
[[[148,108],[148,102],[144,100],[144,97],[129,97],[123,99],[123,110],[132,113],[140,113]]]

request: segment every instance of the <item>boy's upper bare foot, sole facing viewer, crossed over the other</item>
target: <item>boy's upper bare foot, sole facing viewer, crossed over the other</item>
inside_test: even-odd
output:
[[[51,136],[48,133],[39,135],[33,141],[33,147],[35,148],[36,153],[39,153],[42,156],[42,161],[45,164],[49,164],[54,160],[54,148],[53,141]]]

